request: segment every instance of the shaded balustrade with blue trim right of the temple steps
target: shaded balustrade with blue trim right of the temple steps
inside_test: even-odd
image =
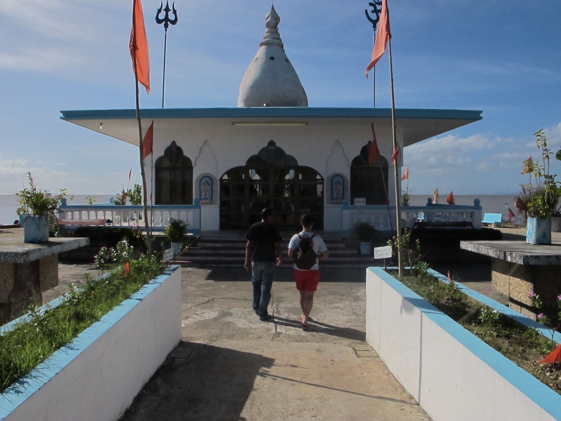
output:
[[[425,206],[402,206],[402,227],[412,228],[416,222],[425,222],[432,227],[453,227],[458,223],[471,224],[481,229],[481,206],[479,199],[473,206],[444,205],[427,203]],[[396,232],[396,207],[388,205],[349,205],[347,201],[341,208],[341,234],[348,236],[350,228],[357,222],[369,222],[383,234]],[[456,224],[455,224],[456,223]]]

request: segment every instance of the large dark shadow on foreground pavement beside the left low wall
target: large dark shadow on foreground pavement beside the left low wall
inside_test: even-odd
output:
[[[218,346],[180,342],[120,421],[240,418],[256,376],[274,359]]]

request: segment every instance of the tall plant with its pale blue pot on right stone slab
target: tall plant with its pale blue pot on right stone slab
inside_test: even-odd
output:
[[[524,161],[524,171],[530,180],[522,185],[517,197],[517,208],[527,214],[526,242],[529,244],[551,244],[551,216],[557,208],[559,186],[555,175],[549,173],[549,158],[553,152],[548,148],[544,130],[535,132],[536,146],[541,149],[541,162],[532,157]]]

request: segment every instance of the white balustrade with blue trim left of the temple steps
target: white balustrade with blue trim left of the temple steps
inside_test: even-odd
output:
[[[201,234],[201,207],[199,199],[192,205],[153,205],[148,207],[148,216],[153,231],[163,231],[170,219],[181,219],[187,223],[187,233]],[[66,204],[62,200],[58,221],[65,226],[105,225],[110,227],[144,228],[142,205],[116,205],[114,203]],[[108,222],[109,221],[109,222]]]

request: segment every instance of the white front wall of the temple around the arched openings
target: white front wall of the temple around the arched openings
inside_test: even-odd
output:
[[[262,119],[245,119],[259,122]],[[287,119],[268,119],[268,121],[287,121]],[[244,121],[244,120],[240,120]],[[215,180],[213,203],[201,203],[201,224],[203,230],[219,229],[219,191],[220,177],[230,168],[245,166],[251,155],[266,147],[274,140],[288,155],[292,155],[301,166],[314,168],[324,177],[325,188],[330,176],[339,173],[346,178],[345,189],[350,186],[350,164],[360,154],[364,145],[372,139],[370,120],[362,118],[307,118],[290,119],[291,122],[306,121],[305,126],[282,125],[232,125],[231,118],[182,118],[160,119],[154,121],[154,155],[155,160],[163,155],[165,148],[176,141],[189,157],[193,168],[194,197],[199,197],[199,180],[211,175]],[[394,204],[394,177],[392,163],[392,126],[391,120],[376,120],[376,139],[381,155],[389,163],[388,193],[390,203]],[[398,131],[397,141],[403,144],[403,132]],[[402,153],[398,169],[401,174]],[[150,175],[150,157],[145,160],[146,180],[153,186]],[[150,187],[148,187],[150,188]],[[155,198],[155,193],[153,197]],[[328,194],[324,194],[324,230],[341,229],[341,204],[331,204]],[[348,193],[346,193],[348,198]]]

